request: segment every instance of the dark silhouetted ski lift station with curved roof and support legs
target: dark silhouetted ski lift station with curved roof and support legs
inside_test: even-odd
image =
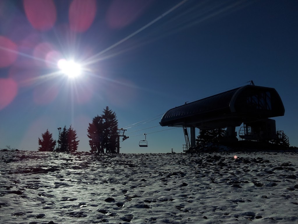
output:
[[[195,146],[195,128],[200,130],[226,128],[224,142],[239,140],[273,140],[276,138],[275,120],[283,116],[285,108],[274,88],[245,85],[168,110],[159,124],[183,127],[186,150]],[[187,127],[190,128],[190,141]]]

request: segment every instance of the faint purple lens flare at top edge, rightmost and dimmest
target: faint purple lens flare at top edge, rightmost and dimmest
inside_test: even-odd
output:
[[[152,1],[114,0],[108,9],[106,20],[108,26],[120,29],[134,22]]]

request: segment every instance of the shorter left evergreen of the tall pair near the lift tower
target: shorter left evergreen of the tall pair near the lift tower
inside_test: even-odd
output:
[[[89,145],[90,145],[90,152],[91,153],[104,153],[103,147],[101,147],[101,141],[99,138],[95,139],[96,137],[103,136],[103,118],[101,116],[96,116],[92,119],[92,123],[89,123],[88,131],[88,138]]]

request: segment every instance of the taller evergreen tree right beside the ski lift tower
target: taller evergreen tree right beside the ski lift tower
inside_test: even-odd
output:
[[[101,115],[103,122],[103,147],[105,153],[117,153],[118,120],[116,113],[107,106]]]

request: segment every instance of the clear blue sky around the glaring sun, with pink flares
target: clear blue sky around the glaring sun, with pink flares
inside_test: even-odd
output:
[[[120,152],[182,152],[162,114],[249,80],[280,94],[277,129],[298,146],[297,12],[296,0],[0,0],[0,148],[35,151],[72,125],[89,151],[89,122],[109,106],[130,136]],[[81,75],[61,73],[63,58]]]

